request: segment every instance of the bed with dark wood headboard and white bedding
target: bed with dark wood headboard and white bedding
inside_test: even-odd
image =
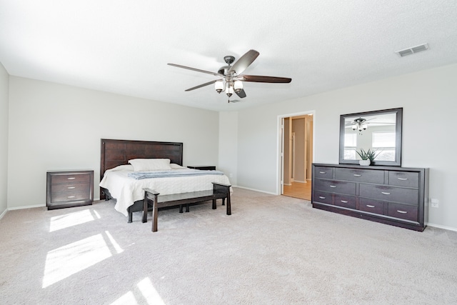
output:
[[[212,182],[230,184],[224,174],[204,173],[198,176],[133,179],[131,159],[170,159],[176,171],[184,171],[183,144],[179,142],[131,141],[101,139],[100,198],[116,199],[115,209],[129,217],[143,211],[145,187],[162,195],[212,189]],[[190,169],[186,169],[190,170]]]

